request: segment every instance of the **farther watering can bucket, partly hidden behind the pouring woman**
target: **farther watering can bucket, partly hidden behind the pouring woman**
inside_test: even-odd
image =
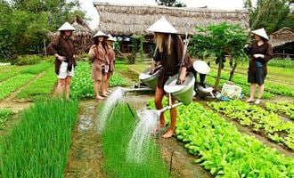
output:
[[[161,66],[157,67],[155,69],[154,73],[150,73],[151,68],[145,69],[140,75],[139,79],[143,84],[148,85],[151,87],[151,89],[155,90],[157,86],[157,79],[159,77],[159,71],[161,69]]]

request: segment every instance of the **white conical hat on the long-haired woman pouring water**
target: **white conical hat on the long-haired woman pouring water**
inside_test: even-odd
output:
[[[177,34],[176,28],[174,28],[174,26],[172,26],[164,17],[161,17],[161,19],[153,23],[147,31]]]

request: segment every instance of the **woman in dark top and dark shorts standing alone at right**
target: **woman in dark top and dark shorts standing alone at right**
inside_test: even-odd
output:
[[[250,55],[248,82],[250,83],[250,97],[247,102],[255,102],[259,104],[264,90],[265,90],[265,77],[267,74],[266,62],[273,57],[273,48],[269,44],[268,36],[266,35],[265,28],[259,28],[251,31],[254,34],[255,42],[249,46],[245,45],[245,51]],[[254,95],[258,85],[257,100],[254,101]]]

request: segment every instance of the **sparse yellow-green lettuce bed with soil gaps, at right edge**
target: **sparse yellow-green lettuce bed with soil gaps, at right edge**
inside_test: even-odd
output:
[[[294,150],[294,124],[284,122],[274,112],[242,101],[210,102],[208,105],[241,125],[250,126],[254,131],[264,133],[272,141]]]

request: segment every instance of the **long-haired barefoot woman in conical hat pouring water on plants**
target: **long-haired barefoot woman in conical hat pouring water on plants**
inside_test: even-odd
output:
[[[181,39],[181,36],[177,35],[176,28],[174,28],[164,17],[152,24],[151,27],[147,29],[147,31],[155,33],[156,43],[156,51],[153,57],[154,62],[151,64],[151,72],[155,69],[155,63],[160,63],[162,66],[159,71],[159,77],[154,96],[156,109],[162,109],[162,98],[165,95],[163,86],[169,77],[172,77],[179,72],[184,53],[184,43]],[[190,68],[191,66],[192,61],[190,61],[190,58],[186,57],[184,59],[183,68],[179,74],[180,84],[184,83],[186,69]],[[175,102],[176,100],[173,98],[172,103],[174,104]],[[162,135],[163,138],[171,137],[176,129],[176,108],[169,110],[171,124],[167,130],[167,133]],[[159,130],[159,128],[164,127],[165,125],[166,121],[163,113],[161,113],[159,117],[159,125],[155,128],[155,131]]]

